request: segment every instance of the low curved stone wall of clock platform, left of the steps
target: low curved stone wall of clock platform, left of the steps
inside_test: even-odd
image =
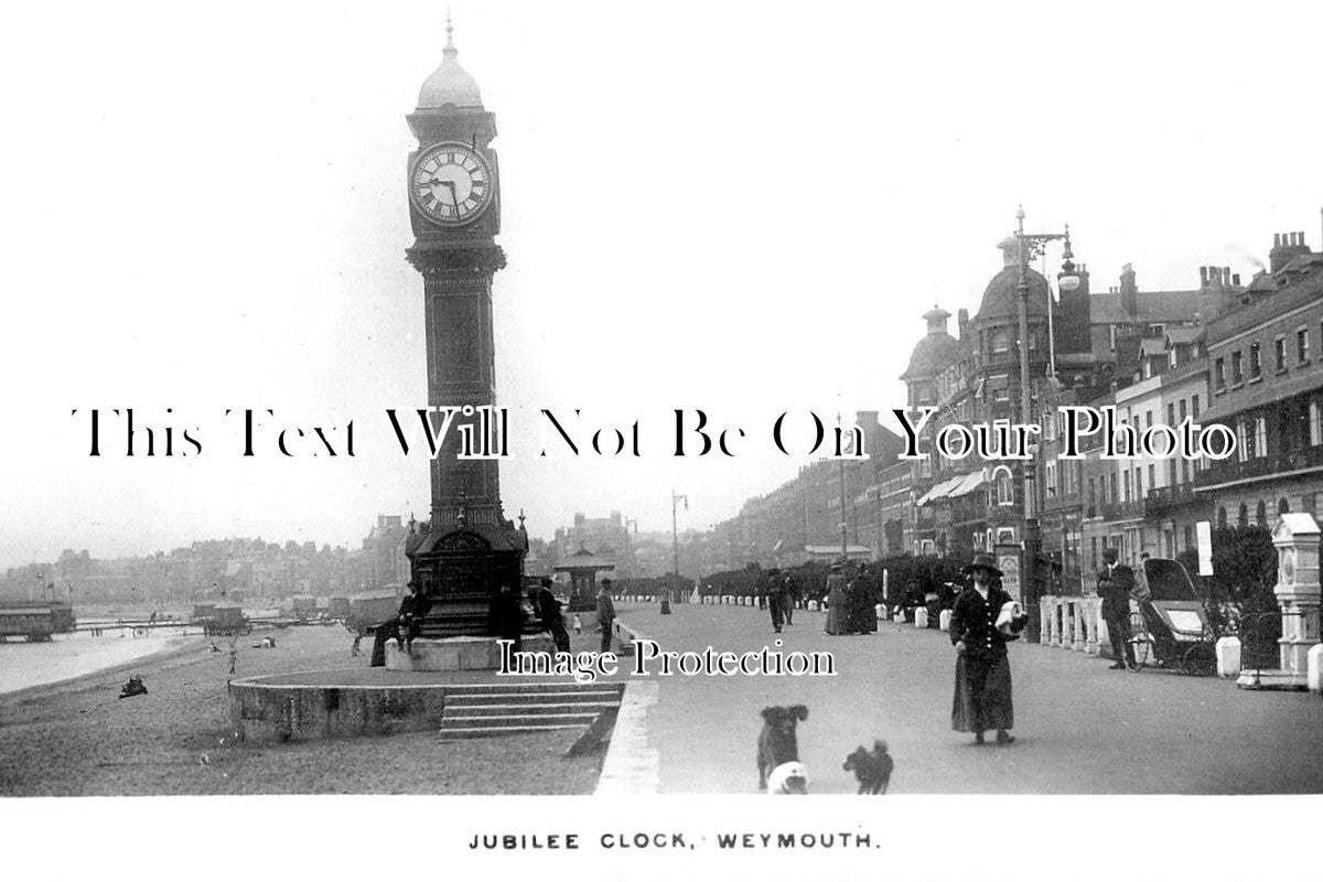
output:
[[[282,674],[279,680],[290,680]],[[233,731],[250,742],[323,741],[439,729],[445,685],[229,684]]]

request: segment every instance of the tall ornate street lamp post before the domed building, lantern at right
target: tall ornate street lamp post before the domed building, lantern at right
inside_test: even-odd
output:
[[[1065,239],[1065,263],[1062,263],[1064,275],[1061,276],[1060,286],[1064,291],[1074,291],[1080,287],[1078,276],[1073,275],[1074,264],[1070,262],[1070,227],[1066,226],[1065,233],[1025,233],[1024,231],[1024,206],[1021,205],[1016,213],[1016,253],[1017,253],[1017,282],[1016,294],[1019,295],[1019,313],[1020,313],[1020,422],[1033,423],[1033,399],[1032,385],[1029,381],[1029,261],[1036,255],[1041,254],[1048,242],[1054,242],[1057,239]],[[1052,295],[1048,294],[1048,317],[1052,316]],[[1056,365],[1048,364],[1048,372],[1054,373]],[[1039,555],[1043,551],[1043,534],[1039,529],[1039,496],[1037,488],[1035,485],[1036,471],[1037,471],[1037,458],[1039,446],[1029,446],[1029,459],[1020,460],[1021,475],[1024,479],[1024,488],[1021,492],[1023,505],[1024,505],[1024,562],[1020,567],[1020,578],[1023,579],[1023,596],[1024,608],[1029,614],[1029,627],[1027,629],[1027,639],[1031,643],[1037,643],[1041,637],[1041,620],[1039,615]]]

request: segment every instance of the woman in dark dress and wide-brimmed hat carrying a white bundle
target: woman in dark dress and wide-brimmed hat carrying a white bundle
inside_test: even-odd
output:
[[[1015,640],[1028,616],[1002,588],[1002,570],[991,554],[976,554],[962,574],[968,587],[951,610],[951,643],[955,644],[955,697],[951,702],[951,729],[974,733],[996,730],[996,743],[1015,741],[1015,705],[1011,701],[1011,665],[1005,644]]]

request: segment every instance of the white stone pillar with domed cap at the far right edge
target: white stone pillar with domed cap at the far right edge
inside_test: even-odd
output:
[[[1304,689],[1308,653],[1319,643],[1319,525],[1311,514],[1289,512],[1273,528],[1277,546],[1277,586],[1282,608],[1281,668],[1246,672],[1237,684],[1246,689]]]

